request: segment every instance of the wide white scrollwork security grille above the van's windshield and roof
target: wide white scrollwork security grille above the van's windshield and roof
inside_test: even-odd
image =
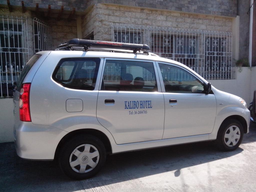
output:
[[[112,24],[112,41],[147,44],[151,52],[173,59],[208,80],[233,79],[229,32]]]

